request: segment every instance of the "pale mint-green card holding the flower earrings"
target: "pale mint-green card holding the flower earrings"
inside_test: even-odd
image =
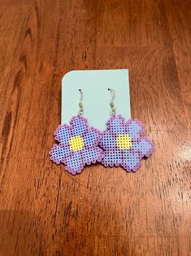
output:
[[[106,121],[111,117],[111,91],[115,90],[116,114],[131,118],[128,69],[74,70],[62,79],[62,119],[68,124],[79,112],[80,92],[83,91],[84,116],[89,126],[106,129]]]

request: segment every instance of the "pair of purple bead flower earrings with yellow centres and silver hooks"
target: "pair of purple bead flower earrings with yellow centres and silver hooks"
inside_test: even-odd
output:
[[[128,121],[115,111],[115,90],[111,91],[111,118],[106,122],[106,130],[89,127],[82,104],[80,91],[79,113],[72,117],[70,125],[61,125],[55,130],[54,144],[50,150],[50,160],[63,163],[71,174],[79,174],[85,165],[102,162],[104,166],[122,166],[135,172],[141,166],[141,158],[149,157],[154,144],[142,136],[143,125],[137,119]]]

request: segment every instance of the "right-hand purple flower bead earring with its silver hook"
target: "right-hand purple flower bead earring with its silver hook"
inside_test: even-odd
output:
[[[99,145],[105,150],[102,164],[104,166],[122,166],[125,170],[135,172],[141,166],[141,158],[149,157],[154,151],[154,143],[142,136],[143,125],[137,119],[124,120],[115,113],[115,90],[111,91],[111,118],[103,132]]]

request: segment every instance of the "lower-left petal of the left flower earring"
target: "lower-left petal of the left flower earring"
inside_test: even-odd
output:
[[[51,148],[49,154],[50,159],[54,161],[57,165],[60,164],[60,162],[65,162],[65,158],[68,156],[70,152],[68,152],[68,148],[63,148],[60,145],[54,144]]]

